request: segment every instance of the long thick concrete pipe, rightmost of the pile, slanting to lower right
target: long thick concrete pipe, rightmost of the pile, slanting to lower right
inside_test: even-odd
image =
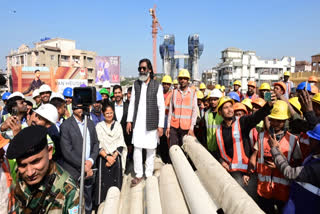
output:
[[[197,168],[197,173],[211,198],[221,206],[224,213],[263,213],[221,164],[197,142],[196,138],[185,136],[183,149]]]

